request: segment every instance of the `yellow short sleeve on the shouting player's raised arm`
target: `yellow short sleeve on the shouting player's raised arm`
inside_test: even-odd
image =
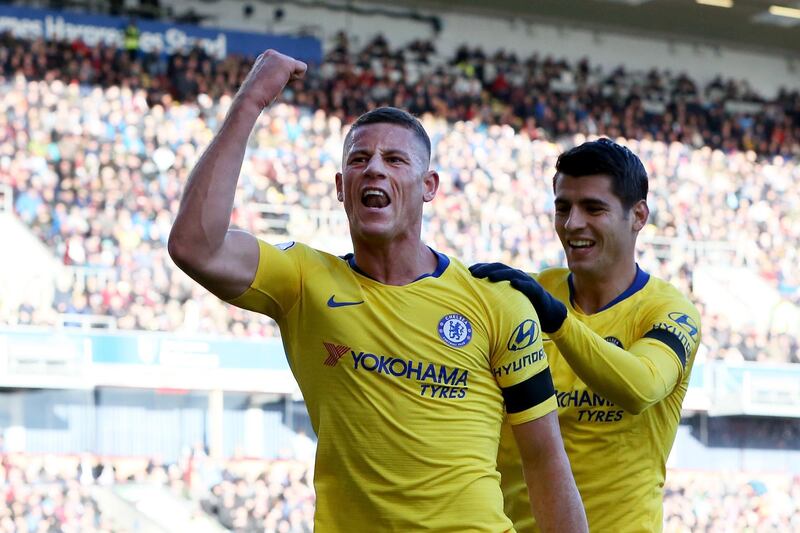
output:
[[[258,247],[258,269],[250,288],[228,303],[280,320],[300,297],[307,247],[294,242],[273,246],[260,239]]]

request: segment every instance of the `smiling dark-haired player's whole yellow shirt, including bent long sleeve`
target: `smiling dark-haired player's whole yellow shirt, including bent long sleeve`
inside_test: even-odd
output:
[[[631,287],[591,315],[574,304],[567,269],[535,277],[569,311],[544,346],[589,529],[661,531],[666,461],[700,342],[699,313],[672,285],[638,267]],[[507,427],[498,470],[517,531],[539,531]]]

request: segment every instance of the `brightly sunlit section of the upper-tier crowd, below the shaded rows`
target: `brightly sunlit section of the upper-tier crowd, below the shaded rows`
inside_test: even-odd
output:
[[[6,310],[13,315],[7,319],[53,324],[60,313],[109,315],[120,329],[274,335],[271,321],[204,294],[166,253],[180,184],[228,102],[146,112],[140,92],[16,78],[0,103],[0,180],[13,187],[21,220],[76,268],[60,275],[50,308],[23,303]],[[548,180],[563,145],[531,141],[508,127],[449,125],[431,116],[425,124],[442,176],[426,224],[433,246],[467,261],[500,259],[533,270],[561,264]],[[263,117],[235,222],[258,231],[263,218],[256,203],[336,210],[332,177],[340,143],[340,121],[320,111],[284,105]],[[679,144],[629,144],[653,176],[645,239],[726,242],[727,264],[746,261],[798,302],[798,167]],[[701,253],[644,248],[645,269],[692,289]],[[707,314],[704,325],[711,358],[798,360],[794,335],[734,330],[717,314]]]

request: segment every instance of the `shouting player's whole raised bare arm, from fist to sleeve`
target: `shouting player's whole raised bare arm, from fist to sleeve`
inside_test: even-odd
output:
[[[274,50],[258,56],[183,191],[169,235],[169,255],[181,270],[222,299],[247,290],[258,268],[256,238],[230,229],[247,139],[261,111],[305,71],[305,63]]]

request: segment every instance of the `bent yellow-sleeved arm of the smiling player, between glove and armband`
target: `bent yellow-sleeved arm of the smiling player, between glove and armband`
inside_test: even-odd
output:
[[[683,375],[680,355],[676,358],[674,351],[678,347],[683,350],[677,338],[671,342],[675,348],[663,340],[645,337],[623,350],[572,315],[550,338],[593,391],[629,413],[639,414],[666,398]],[[686,357],[688,354],[684,362]]]

